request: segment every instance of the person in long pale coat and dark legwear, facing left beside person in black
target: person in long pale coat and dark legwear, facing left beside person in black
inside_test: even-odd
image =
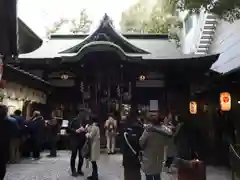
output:
[[[100,128],[97,124],[97,119],[92,118],[90,125],[87,127],[86,137],[90,142],[90,161],[92,163],[92,175],[88,180],[98,180],[97,160],[100,157]]]

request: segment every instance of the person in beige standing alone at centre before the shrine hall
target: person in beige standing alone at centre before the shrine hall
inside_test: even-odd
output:
[[[117,121],[113,118],[112,115],[109,115],[104,127],[107,139],[108,154],[114,154],[117,135]]]

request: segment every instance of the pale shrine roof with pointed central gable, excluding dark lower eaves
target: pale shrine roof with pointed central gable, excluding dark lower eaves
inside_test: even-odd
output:
[[[83,46],[105,41],[119,46],[125,54],[154,54],[164,57],[180,56],[181,51],[167,35],[121,34],[115,30],[110,18],[105,15],[99,27],[89,35],[52,35],[34,52],[20,55],[21,59],[56,58],[75,56]]]

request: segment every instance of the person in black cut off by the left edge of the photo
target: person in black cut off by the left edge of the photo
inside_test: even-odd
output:
[[[10,140],[19,130],[17,124],[7,118],[7,112],[7,107],[0,105],[0,180],[3,180],[6,174]]]

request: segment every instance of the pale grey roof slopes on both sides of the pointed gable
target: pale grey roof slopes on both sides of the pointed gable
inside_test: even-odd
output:
[[[170,42],[167,35],[156,34],[123,34],[132,45],[147,51],[146,54],[155,56],[170,57],[182,56],[180,49],[174,42]],[[44,41],[42,46],[27,54],[21,54],[19,58],[23,59],[42,59],[55,58],[62,56],[74,56],[77,52],[64,52],[82,43],[87,35],[52,35],[51,39]],[[144,54],[144,53],[126,53],[126,54]]]

